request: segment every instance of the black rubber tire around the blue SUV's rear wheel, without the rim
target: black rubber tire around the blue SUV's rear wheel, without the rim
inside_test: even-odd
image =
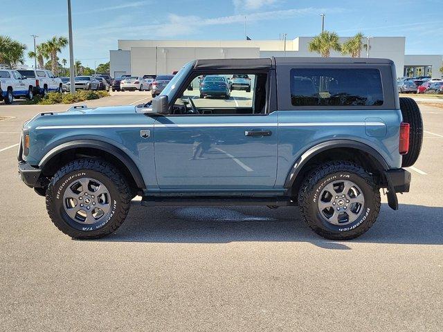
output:
[[[354,222],[334,225],[318,209],[318,199],[323,188],[338,180],[352,181],[358,185],[365,198],[363,212]],[[350,240],[368,231],[380,212],[380,190],[371,174],[360,165],[348,161],[332,161],[311,171],[298,192],[300,214],[309,228],[321,237],[331,240]]]

